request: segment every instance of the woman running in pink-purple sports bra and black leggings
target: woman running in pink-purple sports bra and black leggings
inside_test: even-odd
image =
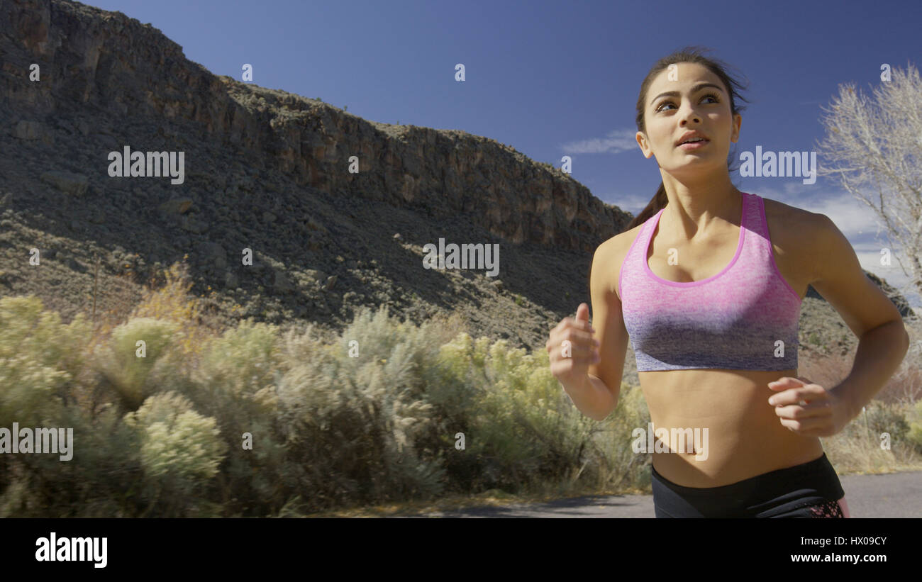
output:
[[[693,49],[644,79],[637,143],[656,156],[663,181],[628,229],[596,250],[596,326],[585,303],[561,320],[547,344],[551,372],[581,412],[602,420],[618,404],[630,333],[659,441],[657,518],[847,518],[819,437],[842,430],[881,389],[908,335],[828,217],[730,182],[737,87]],[[861,339],[851,374],[834,387],[797,375],[808,285]],[[671,450],[661,438],[695,429],[707,442]]]

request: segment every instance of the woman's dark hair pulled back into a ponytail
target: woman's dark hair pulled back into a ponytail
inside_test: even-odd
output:
[[[730,97],[730,112],[734,115],[744,111],[745,106],[737,107],[736,99],[741,99],[745,101],[743,97],[739,95],[739,89],[746,88],[739,84],[735,78],[727,75],[727,68],[730,68],[726,63],[710,59],[703,56],[702,52],[709,51],[709,49],[703,47],[685,47],[680,51],[673,52],[672,54],[663,57],[662,59],[656,61],[656,64],[650,69],[650,72],[644,77],[644,82],[640,84],[640,97],[637,98],[637,131],[646,132],[646,120],[644,119],[644,104],[646,102],[647,92],[650,90],[650,84],[653,83],[653,79],[659,75],[660,72],[666,70],[670,64],[678,63],[697,63],[706,66],[712,73],[720,77],[720,80],[723,81],[724,87],[727,88],[727,94]],[[731,168],[731,160],[736,157],[736,153],[730,153],[727,157],[727,169],[733,171],[734,168]],[[659,210],[666,206],[668,203],[668,197],[666,196],[666,187],[663,185],[662,180],[659,182],[659,188],[656,189],[656,194],[653,195],[653,199],[650,201],[650,204],[646,205],[646,208],[640,212],[639,215],[634,216],[631,223],[624,228],[624,231],[631,230],[637,225],[643,224],[646,222],[650,216],[655,215]]]

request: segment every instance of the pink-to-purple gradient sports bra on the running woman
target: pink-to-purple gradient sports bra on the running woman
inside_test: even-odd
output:
[[[650,271],[647,250],[666,208],[634,239],[618,293],[638,372],[797,369],[802,300],[774,262],[762,197],[741,193],[737,252],[714,276],[677,283]]]

